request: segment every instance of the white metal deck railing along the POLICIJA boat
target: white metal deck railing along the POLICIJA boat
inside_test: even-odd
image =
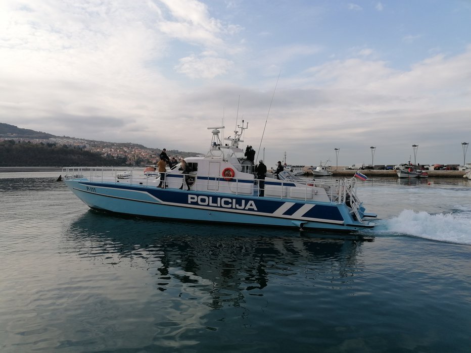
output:
[[[250,167],[241,165],[242,167]],[[85,179],[91,182],[109,182],[126,183],[130,185],[139,185],[146,187],[156,187],[160,182],[159,172],[145,173],[142,168],[132,167],[65,167],[62,169],[64,179]],[[179,175],[181,177],[194,178],[192,190],[218,193],[223,190],[224,185],[228,191],[233,194],[260,196],[259,179],[252,178],[232,178],[230,183],[224,184],[227,180],[222,176],[204,176],[196,174],[181,174],[176,169],[167,171],[166,180],[169,181],[170,175]],[[208,187],[208,180],[214,182],[213,187]],[[179,179],[182,181],[182,179]],[[355,192],[355,179],[325,179],[325,180],[263,180],[264,197],[286,199],[292,198],[296,193],[296,198],[300,200],[309,200],[315,198],[312,187],[322,188],[331,203],[351,204],[353,210],[360,208],[361,203]],[[175,183],[175,181],[173,181]],[[176,184],[172,187],[174,188]],[[179,187],[180,185],[176,186]],[[290,192],[295,186],[296,190]],[[223,191],[224,192],[224,191]],[[358,219],[361,219],[358,215]]]

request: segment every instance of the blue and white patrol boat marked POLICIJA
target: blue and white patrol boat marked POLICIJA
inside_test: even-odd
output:
[[[257,180],[252,161],[239,148],[248,124],[234,137],[208,128],[211,145],[204,156],[185,158],[165,180],[127,168],[63,168],[64,181],[87,206],[124,215],[211,223],[358,231],[371,228],[354,178]],[[159,186],[160,185],[160,186]],[[264,193],[260,192],[260,187]],[[262,196],[263,195],[263,196]]]

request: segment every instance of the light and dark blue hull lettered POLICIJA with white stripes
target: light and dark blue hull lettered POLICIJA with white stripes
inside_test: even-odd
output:
[[[341,231],[356,231],[374,225],[355,220],[345,204],[161,189],[87,179],[65,182],[90,208],[126,215]]]

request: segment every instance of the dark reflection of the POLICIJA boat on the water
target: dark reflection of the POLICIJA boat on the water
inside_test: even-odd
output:
[[[157,274],[155,286],[160,291],[173,290],[176,283],[179,291],[198,287],[201,296],[211,295],[207,305],[212,308],[223,301],[243,301],[247,292],[261,294],[257,290],[268,286],[274,273],[288,276],[309,268],[354,276],[361,244],[373,241],[359,235],[300,236],[286,230],[174,225],[90,210],[70,225],[66,237],[74,243],[69,249],[86,260],[100,257],[105,265]]]

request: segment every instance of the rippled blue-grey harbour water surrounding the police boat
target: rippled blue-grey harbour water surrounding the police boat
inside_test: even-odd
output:
[[[117,217],[59,174],[0,173],[2,352],[471,351],[471,181],[359,181],[380,219],[339,235]]]

